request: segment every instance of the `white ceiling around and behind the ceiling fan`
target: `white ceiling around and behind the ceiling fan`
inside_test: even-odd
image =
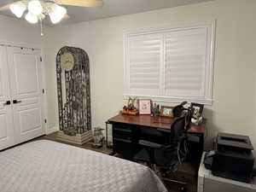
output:
[[[0,0],[0,6],[17,0]],[[75,1],[75,0],[74,0]],[[73,6],[67,7],[67,14],[70,16],[63,23],[77,23],[88,20],[99,20],[118,15],[129,15],[145,12],[154,9],[165,9],[182,6],[192,3],[201,3],[211,0],[103,0],[102,8],[80,8]],[[9,10],[0,12],[1,15],[12,15]],[[46,21],[48,24],[49,22]]]

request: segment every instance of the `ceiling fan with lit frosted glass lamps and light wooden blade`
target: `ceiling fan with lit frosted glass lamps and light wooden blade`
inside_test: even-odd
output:
[[[67,9],[61,5],[78,6],[78,7],[102,7],[102,0],[20,0],[9,3],[0,8],[0,11],[10,9],[16,17],[25,19],[32,23],[38,23],[49,15],[53,24],[60,22],[63,18],[69,18]]]

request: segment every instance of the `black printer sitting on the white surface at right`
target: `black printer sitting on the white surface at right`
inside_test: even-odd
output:
[[[250,183],[253,177],[253,145],[247,136],[218,133],[212,153],[212,175]]]

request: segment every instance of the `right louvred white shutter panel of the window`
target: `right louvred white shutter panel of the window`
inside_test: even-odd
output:
[[[167,32],[165,48],[165,96],[203,97],[207,29]]]

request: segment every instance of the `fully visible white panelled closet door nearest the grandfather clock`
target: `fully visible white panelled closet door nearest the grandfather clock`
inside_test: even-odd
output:
[[[15,140],[25,142],[44,135],[40,51],[8,48]]]

